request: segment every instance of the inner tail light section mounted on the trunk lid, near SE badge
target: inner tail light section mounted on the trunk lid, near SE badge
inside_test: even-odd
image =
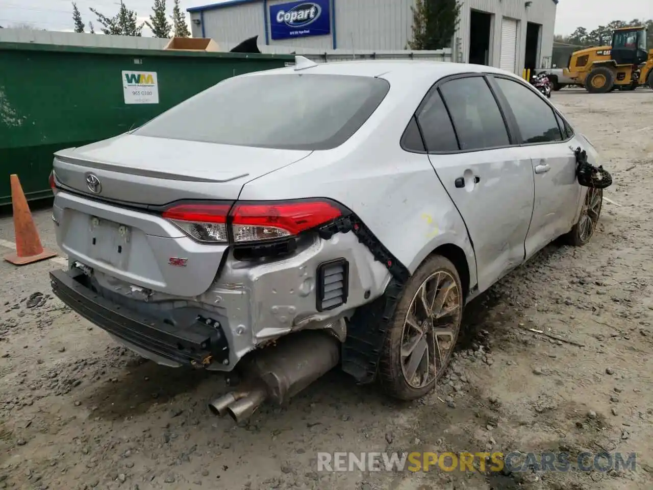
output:
[[[227,215],[231,204],[179,204],[163,212],[186,235],[202,243],[227,243]]]

